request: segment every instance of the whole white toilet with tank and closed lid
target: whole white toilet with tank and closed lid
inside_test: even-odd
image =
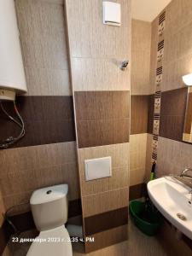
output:
[[[67,223],[68,185],[62,184],[38,189],[32,193],[30,205],[37,229],[40,231],[32,242],[27,256],[72,256],[72,244]]]

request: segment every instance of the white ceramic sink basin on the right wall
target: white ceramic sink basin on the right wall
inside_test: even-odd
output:
[[[192,239],[191,189],[174,177],[160,177],[148,183],[154,206],[184,235]]]

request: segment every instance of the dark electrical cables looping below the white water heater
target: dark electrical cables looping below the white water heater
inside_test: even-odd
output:
[[[0,102],[0,106],[3,110],[3,113],[11,120],[13,121],[16,125],[20,126],[20,134],[17,137],[8,137],[7,139],[3,140],[2,142],[0,142],[0,149],[4,149],[4,148],[9,148],[9,146],[13,145],[14,143],[17,143],[22,137],[24,137],[25,135],[25,125],[23,122],[22,117],[20,116],[20,113],[16,107],[16,104],[14,102],[14,108],[15,108],[15,113],[17,115],[18,119],[15,119],[14,117],[12,117],[7,110],[3,107],[3,102]]]

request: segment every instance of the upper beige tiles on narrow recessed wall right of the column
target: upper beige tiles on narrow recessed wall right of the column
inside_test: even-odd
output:
[[[149,95],[151,23],[132,20],[131,95]]]

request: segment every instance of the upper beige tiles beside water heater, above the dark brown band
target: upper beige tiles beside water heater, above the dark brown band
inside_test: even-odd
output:
[[[63,5],[16,0],[27,95],[72,95]]]

